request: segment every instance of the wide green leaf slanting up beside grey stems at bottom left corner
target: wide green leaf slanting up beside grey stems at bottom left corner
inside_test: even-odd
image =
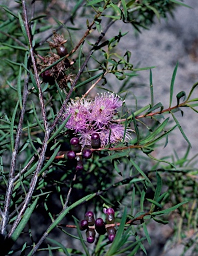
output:
[[[39,199],[39,197],[37,197],[37,199],[35,199],[35,201],[32,203],[32,205],[26,209],[26,211],[23,215],[23,218],[21,219],[19,225],[15,229],[15,232],[13,233],[13,235],[11,235],[11,241],[13,243],[15,243],[15,241],[17,240],[17,238],[23,231],[25,225],[27,224],[27,221],[29,221],[31,214],[33,213],[33,210],[35,209],[35,207],[37,205],[38,199]]]

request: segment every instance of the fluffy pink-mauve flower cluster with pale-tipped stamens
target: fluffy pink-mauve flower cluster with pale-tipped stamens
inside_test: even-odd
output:
[[[65,106],[63,120],[71,115],[66,127],[79,136],[82,147],[91,145],[93,133],[99,134],[101,147],[119,141],[129,141],[131,129],[125,129],[124,125],[115,123],[117,109],[122,103],[121,98],[113,93],[97,94],[95,99],[77,97]]]

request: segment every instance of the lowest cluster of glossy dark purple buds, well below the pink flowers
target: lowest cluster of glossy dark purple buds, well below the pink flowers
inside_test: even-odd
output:
[[[105,208],[104,213],[106,215],[105,221],[103,221],[102,218],[94,219],[92,211],[87,211],[87,213],[85,213],[85,219],[79,221],[80,229],[86,230],[88,243],[93,243],[95,241],[95,231],[97,231],[99,235],[105,235],[105,233],[107,233],[109,242],[113,242],[116,229],[114,226],[109,226],[108,224],[113,224],[115,222],[115,211],[113,208]]]

